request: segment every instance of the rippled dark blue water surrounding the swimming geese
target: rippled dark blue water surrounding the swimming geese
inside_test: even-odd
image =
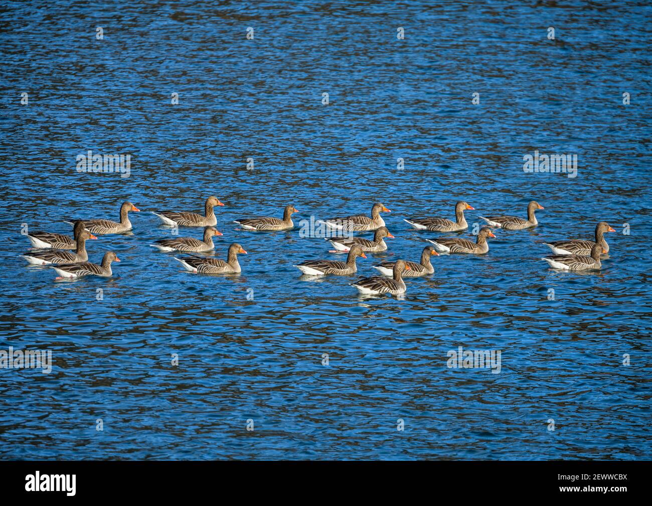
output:
[[[6,3],[0,349],[53,365],[0,369],[0,456],[651,458],[651,20],[644,1]],[[77,172],[87,150],[130,154],[129,177]],[[535,150],[578,155],[577,176],[525,173]],[[171,235],[148,210],[209,195],[226,203],[215,255],[242,244],[241,276],[149,247]],[[460,199],[476,209],[463,237],[482,215],[545,210],[487,255],[435,257],[404,300],[302,279],[293,264],[342,257],[298,226],[231,221],[380,201],[396,238],[359,260],[371,276],[451,235],[403,218],[452,218]],[[23,223],[68,233],[124,200],[142,210],[133,234],[88,244],[91,261],[116,251],[110,279],[55,283],[18,257]],[[600,272],[540,260],[538,242],[600,220],[616,230]],[[448,368],[458,346],[500,350],[501,371]]]

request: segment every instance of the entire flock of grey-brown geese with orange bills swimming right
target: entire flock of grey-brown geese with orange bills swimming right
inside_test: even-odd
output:
[[[179,237],[172,239],[161,239],[153,247],[160,251],[181,251],[187,253],[204,253],[213,251],[213,237],[221,236],[215,228],[217,219],[215,207],[224,206],[216,197],[209,197],[205,202],[203,215],[192,212],[158,211],[152,212],[158,216],[165,225],[173,227],[203,227],[202,240],[194,237]],[[373,266],[383,276],[361,277],[351,285],[361,294],[393,294],[398,295],[406,292],[406,284],[403,277],[427,276],[434,272],[430,257],[439,253],[466,253],[482,255],[489,251],[488,238],[495,238],[490,227],[503,230],[522,230],[535,227],[537,217],[535,211],[543,209],[537,202],[530,202],[527,205],[527,219],[515,216],[489,216],[480,217],[486,221],[477,234],[476,242],[465,238],[437,238],[426,239],[432,245],[424,247],[421,253],[421,261],[384,262]],[[466,230],[468,224],[464,218],[464,211],[474,210],[466,202],[457,202],[455,206],[455,221],[440,217],[410,218],[408,222],[414,229],[430,230],[432,232],[459,232]],[[112,276],[111,262],[120,260],[113,251],[108,251],[102,258],[101,264],[94,264],[88,261],[86,252],[86,241],[96,239],[95,234],[121,234],[132,229],[129,221],[130,212],[140,210],[131,202],[124,202],[120,208],[120,221],[110,219],[78,219],[67,221],[74,226],[73,234],[70,236],[55,234],[53,232],[31,232],[27,234],[32,247],[38,251],[29,251],[21,255],[29,264],[48,265],[59,274],[56,279],[76,278],[87,275]],[[294,206],[286,206],[283,217],[254,217],[237,219],[234,223],[240,225],[243,230],[271,231],[289,230],[294,228],[292,214],[297,212]],[[327,237],[331,242],[333,250],[331,253],[348,253],[346,262],[334,260],[310,260],[295,265],[303,274],[308,276],[325,276],[333,274],[336,276],[347,276],[357,272],[356,259],[366,258],[365,253],[377,253],[385,251],[387,244],[385,238],[394,236],[385,227],[385,221],[381,212],[390,212],[383,204],[374,204],[371,210],[371,217],[365,215],[352,215],[346,217],[335,217],[319,220],[334,234],[341,236]],[[374,232],[374,239],[368,240],[359,236],[353,236],[353,232]],[[552,249],[554,255],[543,257],[552,268],[582,271],[595,270],[601,267],[600,255],[608,253],[609,245],[604,240],[604,232],[614,232],[604,221],[600,221],[595,227],[595,241],[587,239],[560,240],[544,243]],[[74,250],[74,253],[67,250]],[[181,262],[188,272],[201,274],[228,274],[241,272],[238,257],[240,253],[246,253],[243,247],[237,243],[231,244],[228,249],[226,261],[215,257],[191,256],[174,257]]]

